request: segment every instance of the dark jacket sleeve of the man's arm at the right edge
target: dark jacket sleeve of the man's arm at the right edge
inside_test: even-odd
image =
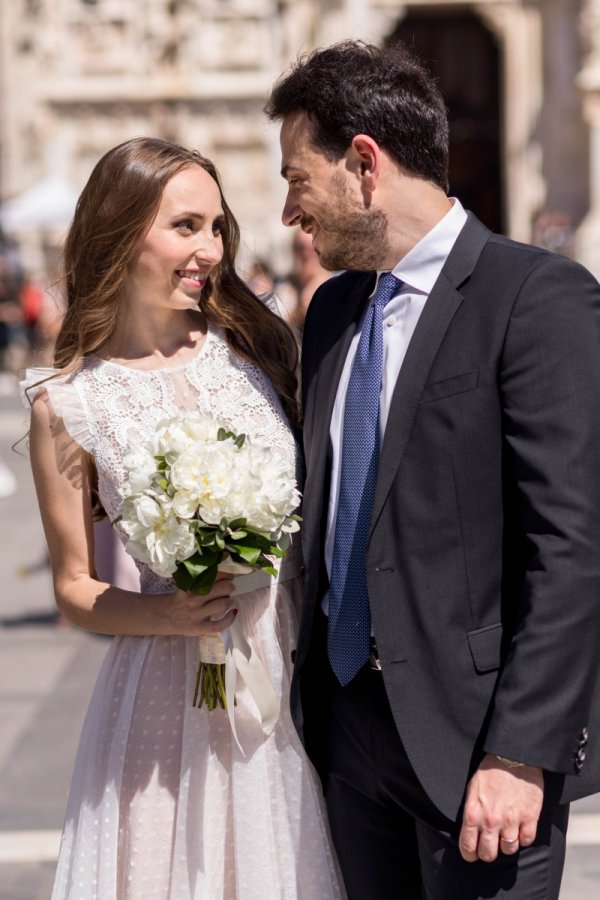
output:
[[[572,774],[600,665],[600,286],[581,266],[529,273],[499,388],[525,578],[485,750]]]

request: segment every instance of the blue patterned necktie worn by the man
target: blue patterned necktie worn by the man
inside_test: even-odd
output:
[[[371,613],[365,555],[379,464],[383,308],[400,284],[391,272],[379,278],[346,393],[327,637],[331,668],[342,685],[369,659]]]

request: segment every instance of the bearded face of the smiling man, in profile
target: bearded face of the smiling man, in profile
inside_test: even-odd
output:
[[[387,219],[366,209],[346,157],[328,160],[311,141],[306,113],[287,116],[281,128],[281,174],[288,183],[284,225],[300,225],[311,235],[323,268],[371,270],[387,247]]]

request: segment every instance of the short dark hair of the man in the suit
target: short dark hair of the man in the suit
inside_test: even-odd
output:
[[[271,120],[305,112],[312,142],[333,162],[367,134],[407,171],[448,190],[448,116],[427,71],[397,42],[342,41],[299,57],[265,106]]]

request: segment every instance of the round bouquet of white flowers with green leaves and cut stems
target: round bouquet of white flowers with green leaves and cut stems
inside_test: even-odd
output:
[[[185,413],[162,421],[124,466],[117,521],[134,559],[194,594],[210,591],[218,569],[277,574],[273,559],[299,528],[300,494],[275,448]],[[203,703],[227,709],[220,635],[200,637],[194,706]]]

